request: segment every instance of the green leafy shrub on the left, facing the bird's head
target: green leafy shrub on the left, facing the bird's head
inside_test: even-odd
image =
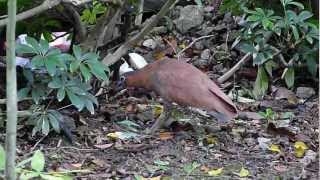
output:
[[[49,43],[41,39],[26,37],[27,44],[18,44],[17,53],[31,56],[31,69],[25,68],[26,87],[18,92],[19,99],[32,97],[38,105],[33,108],[30,124],[35,125],[33,134],[40,131],[48,134],[50,127],[58,131],[57,122],[61,121],[59,112],[49,110],[52,101],[68,99],[79,111],[87,109],[94,113],[97,99],[90,93],[90,80],[96,77],[108,79],[109,69],[99,61],[95,53],[83,53],[73,46],[73,55],[61,53],[57,48],[49,48]],[[54,97],[53,99],[50,97]],[[46,105],[46,103],[49,103]]]

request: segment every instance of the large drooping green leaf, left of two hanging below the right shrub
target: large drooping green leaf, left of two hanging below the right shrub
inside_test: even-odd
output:
[[[265,93],[268,90],[269,86],[269,78],[264,70],[263,66],[259,66],[258,68],[258,73],[257,73],[257,79],[255,81],[254,89],[253,89],[253,94],[256,98],[260,98],[265,95]]]

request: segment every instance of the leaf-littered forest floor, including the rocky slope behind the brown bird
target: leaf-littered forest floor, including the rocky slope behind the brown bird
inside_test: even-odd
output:
[[[210,77],[221,76],[243,57],[231,49],[240,28],[230,14],[206,14],[191,33],[172,30],[173,34],[150,35],[143,44],[153,51],[141,45],[135,52],[144,53],[149,62],[159,60],[197,37],[213,34],[186,50],[182,60]],[[173,13],[172,18],[178,15]],[[239,72],[233,82],[225,83],[229,84],[225,92],[233,84],[252,89],[254,78]],[[310,83],[297,82],[297,86],[310,87]],[[275,84],[261,101],[236,99],[247,117],[222,127],[201,112],[175,106],[171,123],[146,135],[144,130],[161,113],[159,100],[147,93],[115,96],[111,92],[99,97],[94,115],[71,108],[61,111],[76,125],[73,144],[53,132],[44,138],[31,137],[31,128],[19,125],[18,160],[41,149],[48,170],[88,170],[74,174],[75,179],[319,179],[319,98],[315,93],[302,92],[308,96],[302,99],[283,84]],[[4,131],[1,133],[0,142],[4,142]]]

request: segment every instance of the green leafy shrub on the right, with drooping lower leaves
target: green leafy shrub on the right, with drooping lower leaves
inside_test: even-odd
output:
[[[294,86],[298,65],[306,64],[311,75],[317,74],[319,29],[309,22],[312,13],[293,0],[281,0],[281,5],[282,16],[273,10],[244,8],[247,23],[238,40],[240,50],[252,53],[253,65],[258,66],[256,98],[266,93],[272,71],[279,67],[283,67],[281,78],[289,88]]]

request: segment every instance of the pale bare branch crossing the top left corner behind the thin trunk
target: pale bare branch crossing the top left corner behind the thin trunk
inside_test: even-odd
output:
[[[88,3],[91,1],[92,0],[77,0],[77,1],[75,1],[75,0],[45,0],[41,5],[17,14],[16,21],[18,22],[18,21],[30,18],[32,16],[35,16],[37,14],[40,14],[48,9],[51,9],[51,8],[59,5],[61,2],[72,3],[74,5],[80,5],[80,4]],[[1,19],[0,20],[0,27],[6,26],[7,23],[8,23],[8,18]]]

